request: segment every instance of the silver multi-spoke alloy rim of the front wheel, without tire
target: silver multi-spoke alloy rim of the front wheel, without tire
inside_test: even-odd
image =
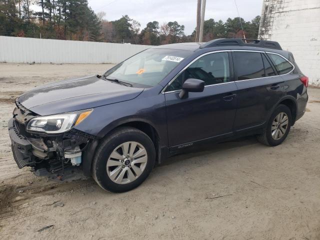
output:
[[[146,163],[145,147],[136,141],[127,141],[113,149],[106,162],[106,172],[113,182],[126,184],[142,174]]]

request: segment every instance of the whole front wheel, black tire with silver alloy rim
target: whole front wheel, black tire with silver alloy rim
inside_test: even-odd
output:
[[[152,140],[133,127],[121,127],[98,146],[92,175],[103,189],[123,192],[140,185],[155,162]]]

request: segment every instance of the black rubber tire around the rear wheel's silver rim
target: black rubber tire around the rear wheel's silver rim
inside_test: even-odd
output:
[[[280,112],[284,112],[287,115],[288,124],[287,124],[287,127],[285,129],[285,133],[281,136],[280,139],[276,140],[271,135],[271,126],[272,126],[273,119]],[[268,146],[279,145],[280,143],[282,143],[282,141],[284,141],[284,139],[286,138],[287,134],[289,133],[290,127],[291,127],[291,123],[292,123],[292,115],[291,115],[290,108],[287,107],[286,105],[279,104],[278,106],[275,107],[274,111],[272,112],[268,122],[266,123],[266,127],[263,129],[263,133],[257,135],[256,138],[257,138],[257,140],[259,142],[261,142],[261,143],[263,143],[265,145],[268,145]]]

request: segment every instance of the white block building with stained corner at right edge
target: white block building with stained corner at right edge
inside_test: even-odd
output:
[[[263,0],[258,37],[291,51],[309,83],[320,86],[320,0]]]

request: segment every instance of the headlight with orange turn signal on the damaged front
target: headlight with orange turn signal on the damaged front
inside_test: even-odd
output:
[[[84,120],[93,109],[74,111],[49,116],[38,116],[32,118],[26,125],[29,131],[40,131],[45,133],[61,133],[71,129]]]

